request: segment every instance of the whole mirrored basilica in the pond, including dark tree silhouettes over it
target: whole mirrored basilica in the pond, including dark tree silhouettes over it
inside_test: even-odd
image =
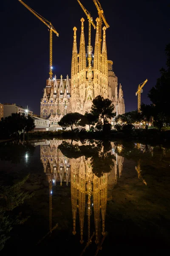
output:
[[[107,200],[112,198],[111,193],[117,183],[117,173],[121,175],[123,157],[113,152],[114,143],[111,142],[54,139],[35,145],[41,145],[41,161],[49,182],[50,229],[54,189],[51,185],[57,185],[56,181],[60,182],[60,185],[63,181],[66,185],[70,182],[73,234],[77,232],[76,218],[79,212],[80,242],[83,243],[83,233],[86,230],[89,245],[93,234],[91,231],[95,227],[95,241],[98,243],[101,236],[105,236]],[[91,218],[93,214],[94,218]],[[85,227],[84,221],[87,221]]]

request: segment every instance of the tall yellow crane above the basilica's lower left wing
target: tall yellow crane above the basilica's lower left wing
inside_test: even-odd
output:
[[[50,79],[52,79],[52,33],[54,32],[57,36],[59,36],[59,33],[57,33],[56,29],[54,28],[54,26],[51,24],[51,22],[49,22],[48,20],[46,20],[45,18],[43,18],[41,15],[39,15],[37,12],[35,12],[33,9],[31,9],[28,5],[26,5],[23,1],[20,1],[20,3],[23,4],[23,6],[25,6],[30,12],[32,12],[39,20],[41,20],[46,26],[48,26],[48,29],[50,31]]]

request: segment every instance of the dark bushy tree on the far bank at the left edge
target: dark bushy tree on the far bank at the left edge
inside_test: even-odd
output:
[[[23,133],[33,130],[35,127],[34,119],[25,114],[12,113],[10,116],[1,118],[0,137],[22,137]]]

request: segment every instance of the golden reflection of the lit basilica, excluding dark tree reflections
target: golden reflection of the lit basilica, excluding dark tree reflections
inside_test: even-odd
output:
[[[67,140],[72,145],[81,145],[80,142]],[[101,233],[105,236],[105,214],[107,200],[111,200],[111,191],[117,183],[117,177],[121,176],[124,157],[119,156],[114,148],[114,143],[111,142],[111,149],[108,152],[113,164],[111,169],[108,166],[108,172],[101,172],[98,177],[93,172],[91,157],[68,158],[62,154],[58,148],[62,144],[62,140],[46,140],[44,142],[35,143],[40,145],[40,158],[44,167],[44,172],[49,182],[49,197],[50,197],[50,231],[51,227],[51,209],[52,209],[52,186],[57,185],[57,182],[71,183],[71,204],[73,216],[73,234],[76,234],[76,218],[79,213],[79,229],[80,242],[83,243],[83,229],[85,215],[88,219],[88,243],[91,241],[90,221],[93,218],[95,224],[95,242],[99,242]],[[95,144],[95,143],[94,143]],[[86,142],[83,145],[88,145]],[[104,151],[101,147],[101,152]],[[107,169],[107,168],[106,168]],[[94,217],[91,217],[94,216]],[[102,229],[101,229],[102,227]],[[101,231],[101,232],[100,232]],[[93,235],[92,235],[93,236]]]

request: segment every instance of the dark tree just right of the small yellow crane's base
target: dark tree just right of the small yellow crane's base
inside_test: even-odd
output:
[[[139,122],[142,122],[146,131],[149,127],[149,123],[152,121],[153,108],[153,105],[145,105],[144,103],[142,103],[140,108],[141,111],[138,113],[137,116],[137,119],[139,120]]]

